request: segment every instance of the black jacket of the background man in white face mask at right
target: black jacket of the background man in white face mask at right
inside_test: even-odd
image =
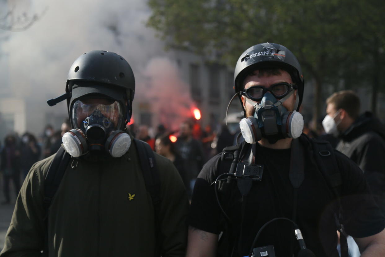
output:
[[[385,213],[385,126],[372,113],[363,113],[340,135],[336,149],[360,166]]]

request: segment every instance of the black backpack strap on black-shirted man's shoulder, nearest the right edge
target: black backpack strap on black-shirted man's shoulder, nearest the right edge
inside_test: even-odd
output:
[[[319,170],[338,203],[338,212],[334,213],[337,230],[340,232],[341,257],[348,257],[347,234],[343,229],[343,208],[340,201],[342,178],[337,166],[334,149],[327,141],[312,140],[314,156]]]

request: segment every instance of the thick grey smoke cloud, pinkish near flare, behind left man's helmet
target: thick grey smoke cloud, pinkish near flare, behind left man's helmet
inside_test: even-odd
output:
[[[33,17],[33,14],[37,14],[39,17],[25,31],[2,31],[9,39],[0,42],[3,54],[0,56],[7,56],[7,61],[1,63],[8,66],[4,69],[8,71],[8,83],[1,83],[0,87],[2,91],[10,87],[7,89],[10,91],[7,97],[25,99],[28,131],[39,133],[47,120],[47,113],[53,117],[65,117],[67,113],[64,102],[49,107],[46,100],[64,93],[69,67],[79,55],[89,50],[116,52],[131,64],[139,90],[134,103],[147,99],[147,91],[140,93],[142,86],[150,85],[152,89],[162,87],[162,92],[167,92],[171,91],[168,86],[175,91],[182,85],[186,88],[186,96],[180,102],[185,106],[190,105],[191,100],[186,93],[189,91],[181,81],[178,82],[175,67],[159,65],[161,59],[152,61],[153,58],[169,54],[164,53],[162,42],[154,37],[155,32],[144,25],[151,14],[146,1],[13,2],[17,3],[18,12],[24,13],[24,16]],[[166,59],[162,60],[167,62]],[[172,71],[165,70],[166,67]],[[162,72],[159,72],[161,68]],[[152,80],[151,83],[148,78]],[[149,96],[153,97],[151,94]],[[168,97],[167,94],[158,94],[158,100],[149,104],[161,106],[165,110],[184,109],[183,106],[167,107],[166,103],[172,103],[174,98],[166,100],[164,97]],[[137,111],[134,108],[134,114]],[[167,115],[171,117],[179,114]],[[162,115],[157,116],[162,122],[169,120]],[[58,128],[57,124],[55,126]]]

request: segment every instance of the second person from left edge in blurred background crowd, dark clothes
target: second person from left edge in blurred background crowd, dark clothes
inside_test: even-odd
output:
[[[39,161],[40,155],[41,148],[37,143],[35,136],[28,132],[24,133],[20,147],[20,168],[22,170],[23,178],[27,176],[33,163]]]

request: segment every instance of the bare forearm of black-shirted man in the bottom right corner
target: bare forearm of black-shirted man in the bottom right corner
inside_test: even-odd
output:
[[[354,240],[360,248],[361,257],[385,256],[385,229],[375,235]]]

